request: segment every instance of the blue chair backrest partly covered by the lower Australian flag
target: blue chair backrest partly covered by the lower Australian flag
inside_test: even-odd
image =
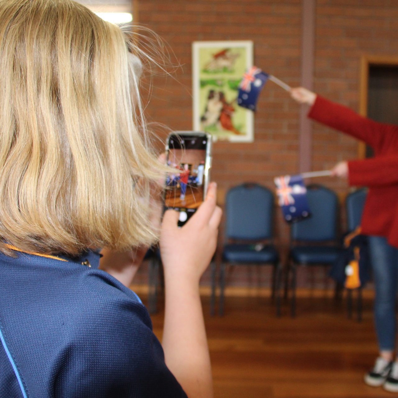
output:
[[[337,240],[338,198],[322,185],[307,187],[311,217],[291,226],[292,240],[322,242]]]

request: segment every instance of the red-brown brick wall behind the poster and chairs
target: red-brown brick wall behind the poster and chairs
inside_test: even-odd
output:
[[[174,130],[192,129],[192,41],[252,40],[254,64],[297,86],[301,16],[300,0],[140,0],[139,22],[165,39],[181,63],[176,80],[154,78],[149,119]],[[317,0],[314,90],[357,110],[361,55],[398,54],[397,17],[396,0]],[[212,176],[221,192],[244,181],[273,189],[275,175],[297,172],[299,111],[285,91],[267,83],[255,115],[254,142],[214,145]],[[355,140],[317,124],[312,144],[312,170],[357,156]],[[341,197],[348,191],[345,183],[330,178],[312,182],[328,185]],[[285,252],[289,231],[277,210],[277,240]],[[250,278],[234,273],[230,282]]]

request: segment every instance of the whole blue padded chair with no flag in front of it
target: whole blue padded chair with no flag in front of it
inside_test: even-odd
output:
[[[224,314],[225,267],[227,264],[273,265],[272,295],[277,315],[280,298],[277,287],[281,275],[279,255],[273,244],[273,193],[258,184],[246,183],[231,188],[225,200],[225,244],[220,265],[220,306]]]

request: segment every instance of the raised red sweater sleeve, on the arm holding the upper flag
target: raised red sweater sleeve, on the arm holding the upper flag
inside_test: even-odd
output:
[[[378,123],[358,115],[353,110],[317,96],[308,117],[342,131],[352,137],[365,141],[377,150],[382,146],[386,133],[398,133],[398,127],[386,123]]]

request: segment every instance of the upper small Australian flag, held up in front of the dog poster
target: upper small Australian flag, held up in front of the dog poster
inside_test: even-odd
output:
[[[268,79],[268,74],[257,66],[252,66],[243,76],[239,85],[238,105],[252,111],[256,110],[258,95]]]

